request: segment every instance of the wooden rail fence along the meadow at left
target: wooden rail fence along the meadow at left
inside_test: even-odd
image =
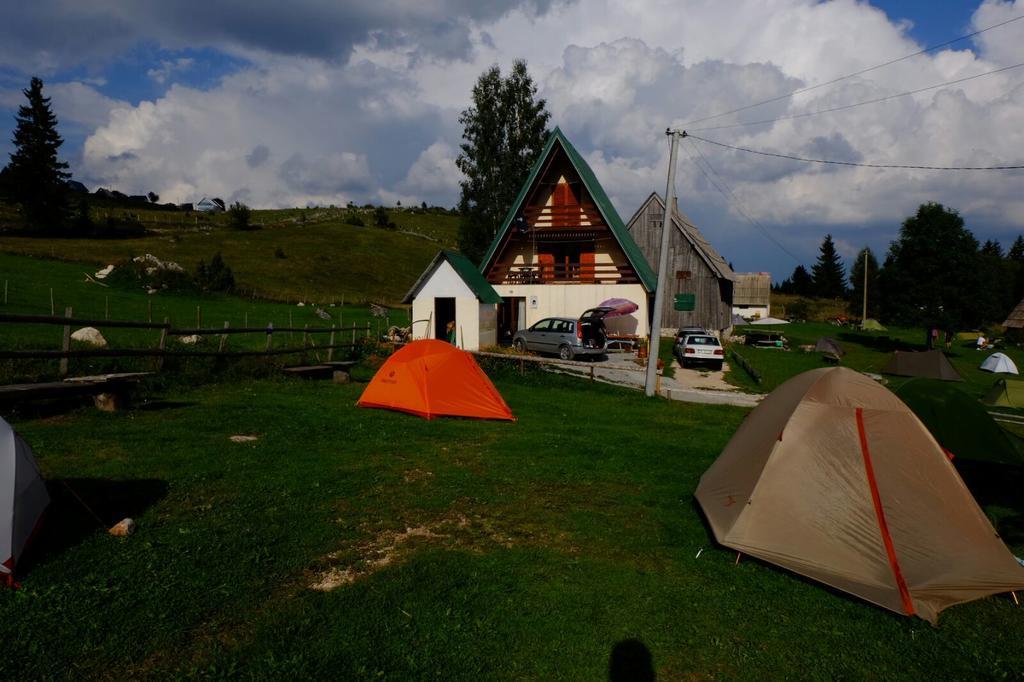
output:
[[[75,318],[71,308],[65,310],[65,316],[57,315],[28,315],[28,314],[0,314],[0,323],[22,324],[22,325],[57,325],[63,327],[63,336],[59,350],[3,350],[0,349],[0,359],[59,359],[60,376],[68,375],[69,358],[82,357],[155,357],[157,358],[156,369],[163,366],[165,357],[244,357],[254,355],[286,355],[290,353],[305,353],[309,351],[326,350],[327,361],[333,361],[334,351],[341,348],[353,348],[357,339],[369,339],[371,337],[370,323],[366,327],[356,327],[352,323],[351,327],[279,327],[273,325],[266,327],[237,327],[232,328],[228,323],[224,323],[221,328],[180,328],[171,326],[168,318],[163,323],[134,322],[127,319],[81,319]],[[154,348],[88,348],[75,349],[71,347],[71,330],[74,327],[94,327],[94,328],[120,328],[120,329],[150,329],[160,330],[160,338]],[[273,347],[274,334],[301,333],[301,346]],[[261,350],[225,350],[227,337],[232,334],[265,334],[266,344]],[[317,345],[313,342],[314,335],[330,334],[330,338],[325,345]],[[349,342],[337,343],[338,339],[345,339],[351,335]],[[168,349],[168,337],[188,337],[188,336],[217,336],[219,344],[217,350],[178,350]]]

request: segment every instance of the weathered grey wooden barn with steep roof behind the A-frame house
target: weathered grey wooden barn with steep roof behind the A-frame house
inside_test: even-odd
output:
[[[662,251],[662,224],[665,201],[651,194],[630,219],[628,228],[652,267],[657,267]],[[715,247],[705,239],[678,204],[672,211],[669,236],[669,269],[662,328],[703,327],[726,330],[732,321],[733,280],[735,274]],[[677,310],[676,297],[693,297],[692,310]]]

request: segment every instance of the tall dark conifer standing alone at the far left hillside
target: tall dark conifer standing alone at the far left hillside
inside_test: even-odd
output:
[[[57,133],[57,119],[50,98],[43,96],[43,82],[33,78],[23,90],[29,103],[17,110],[14,152],[7,166],[7,182],[12,198],[22,204],[30,228],[53,232],[68,218],[68,164],[57,158],[63,140]]]

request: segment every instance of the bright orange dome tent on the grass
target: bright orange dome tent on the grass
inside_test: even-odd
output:
[[[377,370],[360,408],[419,415],[515,420],[473,356],[434,339],[414,341]]]

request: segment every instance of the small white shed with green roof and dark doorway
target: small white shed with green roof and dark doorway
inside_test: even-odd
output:
[[[414,339],[451,340],[464,350],[498,343],[501,302],[469,259],[456,251],[437,252],[402,299],[413,304]]]

